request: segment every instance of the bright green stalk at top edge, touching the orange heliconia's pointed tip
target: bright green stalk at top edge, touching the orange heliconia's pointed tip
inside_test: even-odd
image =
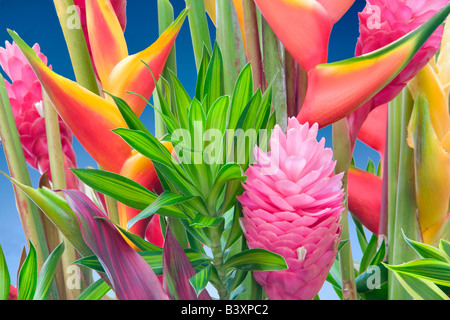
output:
[[[190,7],[188,19],[191,30],[192,46],[194,49],[195,65],[197,71],[202,61],[203,47],[211,53],[211,37],[209,34],[208,20],[205,4],[199,0],[186,0],[186,6]]]

